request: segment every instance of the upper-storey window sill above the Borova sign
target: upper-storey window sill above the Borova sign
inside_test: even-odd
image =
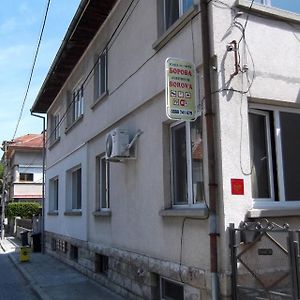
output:
[[[198,7],[190,7],[174,24],[172,24],[167,31],[165,31],[152,45],[156,51],[165,46],[196,14]]]

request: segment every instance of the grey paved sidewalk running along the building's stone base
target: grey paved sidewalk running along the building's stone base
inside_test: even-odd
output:
[[[28,262],[20,262],[20,244],[13,237],[5,238],[1,247],[42,300],[123,299],[48,254],[31,252]]]

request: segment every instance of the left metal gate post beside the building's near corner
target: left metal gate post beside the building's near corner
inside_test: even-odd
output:
[[[229,224],[229,247],[231,258],[231,299],[237,300],[237,260],[236,260],[236,239],[234,224]]]

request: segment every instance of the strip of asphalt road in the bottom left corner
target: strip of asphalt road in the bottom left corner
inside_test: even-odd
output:
[[[0,300],[37,300],[22,274],[0,247]]]

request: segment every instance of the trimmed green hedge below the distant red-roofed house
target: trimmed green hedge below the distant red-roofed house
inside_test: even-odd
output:
[[[33,215],[38,215],[41,205],[37,202],[13,202],[8,203],[6,215],[8,217],[31,218]]]

